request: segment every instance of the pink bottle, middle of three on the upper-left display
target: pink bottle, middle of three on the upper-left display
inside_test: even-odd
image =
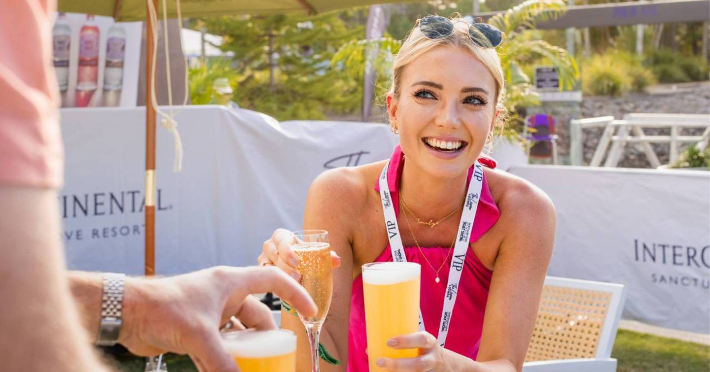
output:
[[[94,15],[87,14],[87,22],[79,33],[79,67],[75,96],[77,107],[89,106],[98,87],[99,40],[99,26],[94,23]]]

